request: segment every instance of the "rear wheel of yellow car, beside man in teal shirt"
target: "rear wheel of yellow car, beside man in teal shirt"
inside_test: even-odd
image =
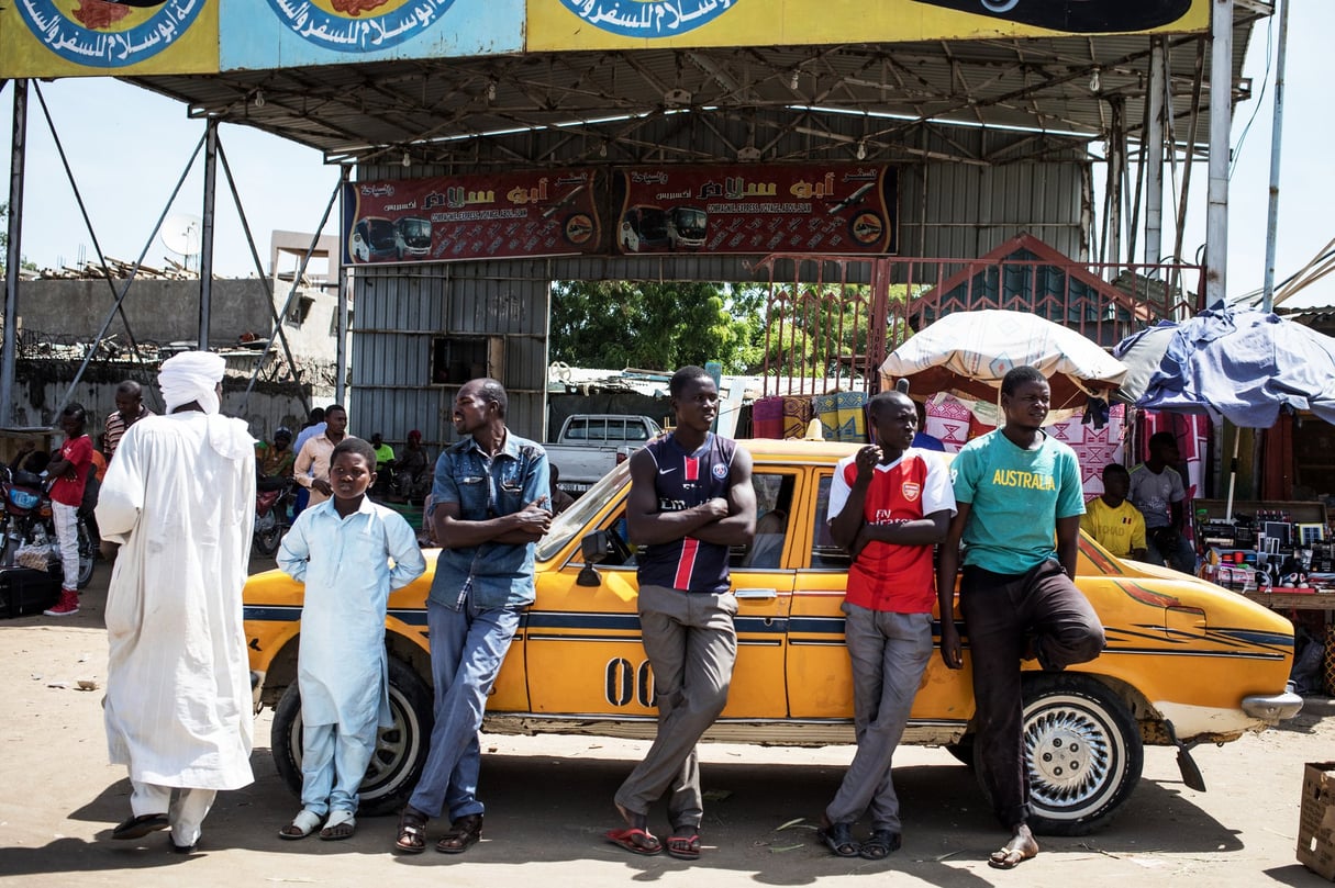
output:
[[[1045,836],[1100,829],[1140,783],[1140,729],[1121,699],[1096,679],[1075,672],[1025,679],[1029,828]],[[975,747],[975,771],[981,776],[981,747]]]

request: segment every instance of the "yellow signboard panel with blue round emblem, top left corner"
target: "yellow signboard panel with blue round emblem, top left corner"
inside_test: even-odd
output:
[[[9,0],[0,77],[216,73],[220,0]]]

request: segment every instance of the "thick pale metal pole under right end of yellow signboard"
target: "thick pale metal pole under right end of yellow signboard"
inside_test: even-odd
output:
[[[1234,0],[1214,0],[1210,43],[1210,189],[1206,209],[1206,305],[1228,297],[1228,161],[1234,117]]]

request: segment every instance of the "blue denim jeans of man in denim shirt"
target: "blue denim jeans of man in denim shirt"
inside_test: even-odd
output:
[[[483,811],[478,801],[478,731],[487,695],[519,625],[519,608],[478,609],[470,597],[455,611],[429,600],[426,621],[431,633],[435,727],[422,779],[409,804],[429,817],[449,809],[454,821]]]

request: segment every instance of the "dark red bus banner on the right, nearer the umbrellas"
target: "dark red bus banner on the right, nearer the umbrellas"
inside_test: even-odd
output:
[[[618,169],[614,249],[893,253],[896,191],[885,164]]]

